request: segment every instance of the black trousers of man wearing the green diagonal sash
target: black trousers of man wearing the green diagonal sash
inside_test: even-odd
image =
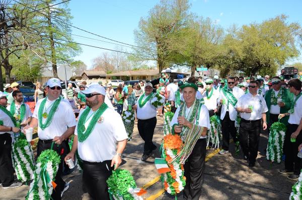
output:
[[[230,134],[233,138],[234,143],[238,141],[236,134],[237,129],[235,127],[235,121],[230,119],[229,112],[225,113],[224,118],[221,121],[221,129],[222,129],[222,149],[225,151],[229,151],[230,145]]]

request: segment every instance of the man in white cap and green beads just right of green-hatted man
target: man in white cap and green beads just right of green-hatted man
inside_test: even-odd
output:
[[[213,116],[217,112],[217,99],[219,98],[219,91],[213,88],[213,80],[205,80],[205,91],[202,94],[204,105],[209,111],[209,116]]]

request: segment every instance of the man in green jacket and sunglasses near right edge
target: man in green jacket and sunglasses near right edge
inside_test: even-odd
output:
[[[286,88],[281,87],[281,79],[276,76],[272,78],[272,89],[265,93],[265,102],[268,107],[266,120],[268,127],[278,121],[279,114],[286,113],[292,104],[293,94]],[[287,125],[289,116],[281,119],[281,122]]]

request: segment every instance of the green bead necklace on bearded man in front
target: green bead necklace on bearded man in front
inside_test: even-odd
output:
[[[94,129],[96,123],[98,120],[101,120],[100,117],[104,113],[104,111],[108,108],[106,103],[103,103],[98,110],[94,113],[91,121],[89,122],[89,125],[87,126],[87,129],[85,128],[85,122],[91,108],[88,107],[84,112],[82,113],[79,122],[78,122],[78,140],[80,143],[83,143],[91,134],[92,130]],[[90,118],[90,117],[89,117]]]

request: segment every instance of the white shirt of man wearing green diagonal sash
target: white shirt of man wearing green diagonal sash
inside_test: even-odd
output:
[[[244,95],[244,91],[238,87],[234,87],[233,88],[233,95],[235,96],[235,98],[238,100],[242,95]],[[228,106],[228,99],[226,99],[226,97],[224,96],[222,89],[220,90],[220,94],[219,94],[219,98],[217,100],[217,103],[219,104],[220,99],[225,99],[225,104],[221,105],[221,115],[220,115],[220,119],[222,120],[225,116],[226,111],[229,111],[229,115],[230,115],[230,119],[232,121],[235,121],[236,117],[237,117],[237,111],[236,109],[233,107],[233,105],[231,103],[229,103],[229,109],[227,110],[227,106]]]

